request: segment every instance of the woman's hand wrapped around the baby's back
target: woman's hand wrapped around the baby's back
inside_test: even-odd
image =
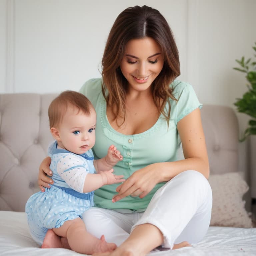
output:
[[[46,176],[47,174],[52,176],[50,164],[51,158],[47,156],[39,166],[38,185],[42,192],[45,191],[45,188],[50,188],[50,184],[53,184],[53,180]]]

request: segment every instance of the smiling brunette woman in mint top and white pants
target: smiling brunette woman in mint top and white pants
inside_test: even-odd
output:
[[[179,248],[199,242],[209,227],[202,105],[191,85],[175,80],[179,74],[178,50],[159,11],[135,6],[120,13],[106,43],[102,79],[80,90],[97,112],[95,158],[110,144],[124,156],[114,170],[126,181],[96,190],[96,207],[83,214],[88,232],[118,245],[102,255]],[[177,161],[180,142],[185,159]],[[40,167],[42,191],[52,183],[45,176],[49,163],[46,158]]]

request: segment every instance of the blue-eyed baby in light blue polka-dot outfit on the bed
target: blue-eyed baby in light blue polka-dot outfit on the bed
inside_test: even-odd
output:
[[[58,247],[58,242],[50,241],[54,232],[67,238],[70,248],[79,253],[112,251],[116,245],[107,243],[104,235],[98,239],[86,231],[82,213],[93,206],[95,189],[125,181],[112,169],[123,157],[111,145],[105,157],[94,160],[91,148],[95,144],[96,112],[83,94],[62,92],[50,104],[48,115],[55,139],[48,149],[54,184],[26,203],[32,238],[42,248],[52,247],[47,245],[51,243]],[[59,238],[59,247],[67,248],[61,241]]]

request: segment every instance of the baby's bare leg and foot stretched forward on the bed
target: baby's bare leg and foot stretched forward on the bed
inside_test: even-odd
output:
[[[71,250],[79,253],[93,254],[113,251],[116,248],[114,243],[107,243],[104,236],[98,239],[88,233],[80,218],[68,220],[61,227],[54,228],[53,231],[58,236],[66,237]]]

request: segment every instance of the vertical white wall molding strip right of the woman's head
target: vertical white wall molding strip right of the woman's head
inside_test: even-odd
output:
[[[200,0],[187,0],[187,81],[192,84],[195,91],[199,85],[199,5]]]

